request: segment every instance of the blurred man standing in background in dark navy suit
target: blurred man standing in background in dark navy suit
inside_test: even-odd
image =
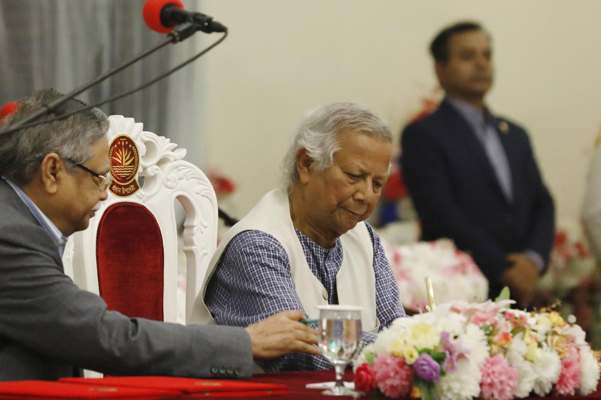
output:
[[[494,115],[490,37],[473,22],[441,31],[430,45],[445,90],[438,109],[402,134],[404,178],[423,240],[450,237],[489,279],[528,305],[546,267],[554,204],[526,132]]]

